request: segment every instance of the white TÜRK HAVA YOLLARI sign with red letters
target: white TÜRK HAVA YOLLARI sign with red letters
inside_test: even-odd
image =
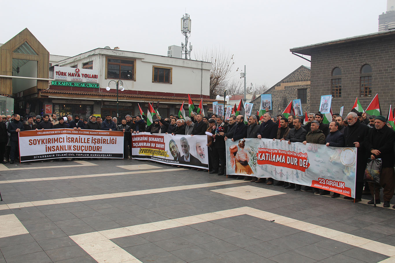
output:
[[[63,81],[79,81],[88,83],[98,83],[98,70],[87,70],[68,67],[54,67],[54,79]]]

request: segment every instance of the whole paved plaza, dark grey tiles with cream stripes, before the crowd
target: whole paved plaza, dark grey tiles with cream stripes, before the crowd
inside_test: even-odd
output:
[[[366,195],[137,160],[0,164],[0,191],[0,263],[395,262],[395,209]]]

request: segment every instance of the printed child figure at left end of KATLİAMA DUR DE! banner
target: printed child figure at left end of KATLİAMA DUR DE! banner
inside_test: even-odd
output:
[[[244,147],[244,139],[239,141],[239,149],[237,149],[236,145],[232,145],[231,147],[229,147],[231,155],[230,163],[232,168],[235,167],[235,173],[251,175],[253,174],[253,172],[250,165],[248,165],[250,158],[248,157],[247,152],[244,150]]]

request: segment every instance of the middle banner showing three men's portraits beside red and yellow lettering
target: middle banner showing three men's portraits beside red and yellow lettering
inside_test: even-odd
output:
[[[207,169],[207,135],[134,133],[132,158]]]

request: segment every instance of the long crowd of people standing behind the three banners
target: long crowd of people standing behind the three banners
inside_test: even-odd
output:
[[[245,124],[243,115],[231,115],[228,120],[224,116],[212,114],[203,116],[191,113],[190,116],[179,118],[177,115],[170,115],[163,118],[156,115],[153,124],[147,126],[145,116],[126,115],[120,122],[111,115],[105,116],[103,120],[100,116],[90,116],[88,119],[80,119],[79,115],[68,115],[57,117],[56,114],[37,116],[2,115],[0,122],[0,155],[4,156],[2,163],[14,163],[18,158],[18,132],[24,130],[45,130],[71,128],[75,130],[116,130],[124,132],[124,159],[132,156],[132,133],[170,133],[173,135],[207,135],[207,147],[209,156],[209,169],[211,174],[226,175],[226,144],[225,141],[239,141],[243,146],[245,138],[265,138],[286,140],[291,143],[311,143],[321,144],[330,147],[356,147],[357,148],[357,169],[354,202],[361,201],[363,194],[370,194],[379,197],[380,187],[384,188],[384,207],[389,207],[395,191],[395,170],[394,170],[394,150],[395,131],[387,123],[384,116],[369,116],[365,113],[350,112],[343,119],[340,114],[333,114],[332,121],[324,124],[322,113],[308,114],[308,122],[303,124],[299,116],[284,115],[272,116],[266,112],[260,120],[258,115],[248,116],[248,123]],[[248,156],[239,154],[238,158],[243,162],[243,158]],[[380,185],[364,183],[363,175],[368,159],[381,158],[382,171]],[[192,168],[202,171],[200,168]],[[273,178],[260,178],[251,176],[234,176],[239,180],[249,180],[255,183],[265,183],[267,185],[282,186],[287,189],[293,188],[295,191],[311,191],[320,195],[330,194],[327,190],[310,188],[298,184],[277,181]],[[339,197],[338,193],[333,193],[331,197]],[[352,199],[352,197],[344,197]],[[372,199],[369,204],[380,203],[380,199]],[[395,206],[393,207],[395,208]]]

